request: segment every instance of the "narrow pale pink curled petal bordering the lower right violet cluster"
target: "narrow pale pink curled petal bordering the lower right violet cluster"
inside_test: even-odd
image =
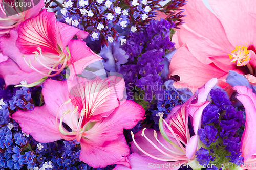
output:
[[[209,101],[204,101],[197,104],[192,104],[188,107],[188,112],[190,115],[193,115],[193,130],[195,135],[190,138],[190,140],[186,144],[186,156],[193,160],[195,157],[195,153],[198,148],[199,136],[197,134],[198,129],[201,128],[202,125],[202,113],[204,108],[209,104]]]

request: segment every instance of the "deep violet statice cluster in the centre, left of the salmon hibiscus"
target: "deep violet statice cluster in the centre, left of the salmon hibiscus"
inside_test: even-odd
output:
[[[164,19],[151,20],[144,32],[127,36],[122,49],[129,58],[119,72],[124,77],[128,99],[137,101],[143,96],[144,101],[151,102],[154,97],[158,100],[163,95],[161,72],[165,54],[174,47],[169,37],[174,26]]]

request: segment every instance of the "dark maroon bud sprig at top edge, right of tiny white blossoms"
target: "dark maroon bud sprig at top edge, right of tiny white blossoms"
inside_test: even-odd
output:
[[[186,0],[172,0],[164,5],[160,10],[167,15],[166,18],[164,18],[165,20],[175,23],[175,28],[179,28],[179,26],[184,23],[182,18],[185,15],[182,14],[184,12],[182,7],[186,4],[186,2]]]

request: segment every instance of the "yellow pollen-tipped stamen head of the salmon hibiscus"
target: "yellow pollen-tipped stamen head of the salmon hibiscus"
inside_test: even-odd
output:
[[[245,66],[249,63],[249,50],[247,50],[246,46],[236,46],[236,48],[228,54],[229,58],[232,59],[231,62],[236,63],[237,66]]]

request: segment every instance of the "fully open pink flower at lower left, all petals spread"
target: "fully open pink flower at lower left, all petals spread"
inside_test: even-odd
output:
[[[144,119],[144,109],[121,100],[124,88],[124,80],[116,76],[81,79],[72,88],[66,81],[48,79],[42,89],[45,105],[32,111],[18,110],[12,118],[39,142],[80,141],[80,160],[94,168],[111,164],[129,167],[125,156],[130,149],[123,128],[131,129]]]

